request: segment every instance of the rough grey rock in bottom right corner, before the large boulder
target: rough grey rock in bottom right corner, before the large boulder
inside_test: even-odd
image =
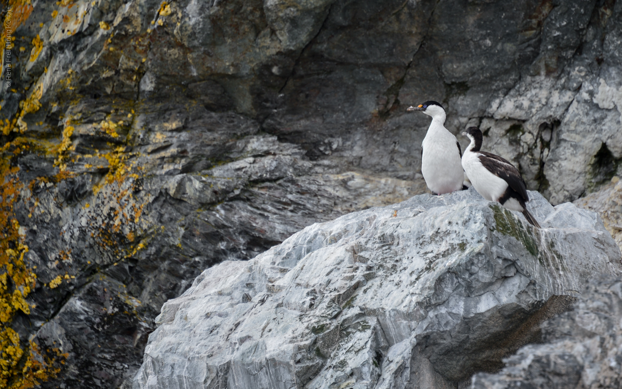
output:
[[[544,344],[522,347],[470,388],[603,388],[622,385],[622,281],[592,281],[573,310],[542,324]]]

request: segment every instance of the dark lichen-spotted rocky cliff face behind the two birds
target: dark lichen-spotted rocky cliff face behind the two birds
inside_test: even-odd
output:
[[[205,268],[423,193],[429,119],[409,104],[441,101],[454,132],[479,125],[553,204],[620,173],[619,1],[7,8],[7,385],[118,387]]]

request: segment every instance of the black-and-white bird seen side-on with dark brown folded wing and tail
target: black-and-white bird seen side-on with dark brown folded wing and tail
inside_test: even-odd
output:
[[[498,155],[480,151],[482,135],[477,127],[468,127],[462,135],[471,140],[462,156],[462,167],[475,190],[488,201],[498,201],[505,208],[521,212],[528,222],[540,228],[525,206],[529,196],[518,169]]]

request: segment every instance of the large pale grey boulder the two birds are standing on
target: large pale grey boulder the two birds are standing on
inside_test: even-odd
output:
[[[313,224],[167,301],[134,388],[443,388],[620,275],[597,214],[531,192],[537,230],[471,189]]]

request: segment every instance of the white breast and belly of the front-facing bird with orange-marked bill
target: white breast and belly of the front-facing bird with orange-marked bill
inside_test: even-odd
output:
[[[422,147],[421,174],[428,188],[438,194],[461,190],[464,172],[456,137],[433,120]]]

